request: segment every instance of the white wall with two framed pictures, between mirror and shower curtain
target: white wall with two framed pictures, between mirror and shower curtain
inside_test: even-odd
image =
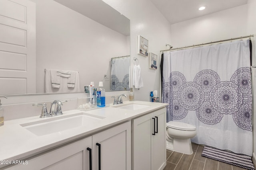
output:
[[[170,44],[170,23],[150,0],[103,0],[130,19],[131,27],[131,79],[133,57],[140,62],[144,87],[134,90],[134,99],[149,101],[150,91],[160,94],[160,50]],[[137,54],[137,35],[148,39],[148,52],[158,55],[158,69],[149,69],[148,57]]]

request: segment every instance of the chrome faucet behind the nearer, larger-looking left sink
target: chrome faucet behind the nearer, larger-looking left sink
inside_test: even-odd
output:
[[[40,117],[50,117],[50,116],[56,116],[56,115],[62,115],[61,105],[64,102],[68,102],[67,100],[64,100],[60,102],[60,100],[54,100],[51,102],[51,109],[50,112],[47,112],[46,104],[33,104],[33,106],[43,106]]]

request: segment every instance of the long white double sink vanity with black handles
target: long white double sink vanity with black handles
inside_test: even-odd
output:
[[[5,121],[0,170],[162,170],[166,106],[134,101]]]

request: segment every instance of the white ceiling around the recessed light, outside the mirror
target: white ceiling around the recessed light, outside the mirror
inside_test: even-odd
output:
[[[178,23],[247,4],[247,0],[151,0],[171,23]],[[199,11],[200,6],[206,6]]]

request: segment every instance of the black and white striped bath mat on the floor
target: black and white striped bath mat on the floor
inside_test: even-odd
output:
[[[234,152],[228,152],[225,150],[205,146],[202,152],[202,156],[244,169],[255,170],[252,163],[252,158],[245,154],[236,154]]]

